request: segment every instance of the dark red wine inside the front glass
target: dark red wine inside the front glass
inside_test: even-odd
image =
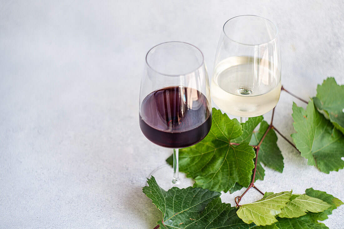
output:
[[[168,148],[185,148],[201,141],[212,126],[208,100],[198,90],[172,86],[151,92],[140,109],[142,133]]]

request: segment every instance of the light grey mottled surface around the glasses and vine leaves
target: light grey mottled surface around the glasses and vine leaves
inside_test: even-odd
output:
[[[141,187],[171,150],[139,128],[149,48],[192,43],[211,76],[224,22],[260,15],[279,28],[283,86],[307,99],[327,76],[344,84],[343,11],[342,0],[0,1],[0,228],[153,228],[161,213]],[[304,107],[282,92],[275,119],[289,139],[292,101]],[[267,168],[261,190],[344,200],[344,170],[321,173],[278,145],[284,171]],[[343,210],[329,228],[344,228]]]

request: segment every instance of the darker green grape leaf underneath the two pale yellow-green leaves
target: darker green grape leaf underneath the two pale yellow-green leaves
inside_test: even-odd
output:
[[[256,226],[253,229],[329,229],[324,223],[318,222],[318,220],[325,220],[328,215],[332,214],[332,211],[338,206],[342,205],[343,202],[330,194],[322,191],[314,190],[313,188],[306,189],[305,195],[310,197],[318,198],[325,203],[329,204],[330,207],[322,212],[307,212],[307,214],[297,218],[280,218],[273,225],[268,226]],[[298,195],[292,195],[292,198],[296,198]],[[276,226],[276,227],[270,227]]]

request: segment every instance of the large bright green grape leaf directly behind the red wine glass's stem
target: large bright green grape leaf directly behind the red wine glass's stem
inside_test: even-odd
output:
[[[248,142],[230,144],[243,134],[236,119],[213,108],[212,127],[196,145],[179,150],[179,169],[195,180],[194,187],[227,192],[237,182],[250,184],[255,151]],[[246,136],[245,138],[248,138]],[[166,160],[172,164],[172,156]]]

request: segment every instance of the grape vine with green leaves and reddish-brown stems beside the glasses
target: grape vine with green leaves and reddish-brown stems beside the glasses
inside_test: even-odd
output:
[[[291,191],[264,193],[255,186],[255,181],[264,179],[262,164],[283,171],[283,156],[277,145],[276,132],[307,159],[308,165],[316,166],[321,172],[329,173],[344,167],[341,159],[344,157],[344,85],[338,85],[334,78],[327,78],[318,85],[316,97],[310,98],[309,102],[283,86],[281,91],[307,104],[304,109],[293,103],[296,131],[291,135],[293,140],[273,126],[275,108],[270,123],[262,116],[239,123],[213,108],[213,125],[208,135],[179,152],[182,159],[180,171],[194,179],[193,187],[173,187],[165,191],[152,177],[148,179],[149,186],[143,188],[163,212],[163,219],[154,229],[205,226],[209,229],[220,226],[289,229],[290,225],[297,225],[293,229],[327,228],[318,220],[327,219],[333,209],[343,204],[341,200],[313,188],[306,189],[305,194],[292,194]],[[255,131],[258,125],[259,130]],[[172,156],[166,161],[172,164]],[[222,191],[232,193],[243,187],[247,187],[243,194],[234,198],[236,206],[222,203],[219,198]],[[240,205],[252,187],[263,195],[262,199]],[[314,203],[318,203],[319,208],[314,208]]]

